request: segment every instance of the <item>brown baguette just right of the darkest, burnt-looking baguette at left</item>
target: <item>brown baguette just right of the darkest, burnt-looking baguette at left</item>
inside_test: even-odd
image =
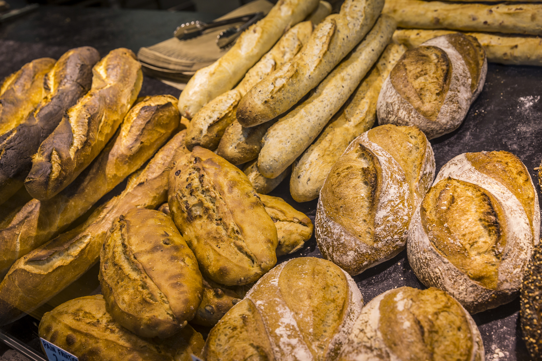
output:
[[[68,110],[33,157],[24,180],[36,199],[66,188],[101,152],[134,103],[143,73],[131,50],[111,50],[92,69],[91,90]]]

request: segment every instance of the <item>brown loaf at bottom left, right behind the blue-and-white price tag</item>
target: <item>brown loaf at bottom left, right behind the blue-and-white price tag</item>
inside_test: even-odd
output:
[[[85,361],[191,361],[203,347],[202,335],[190,326],[165,340],[139,338],[113,319],[101,294],[47,312],[38,334]]]

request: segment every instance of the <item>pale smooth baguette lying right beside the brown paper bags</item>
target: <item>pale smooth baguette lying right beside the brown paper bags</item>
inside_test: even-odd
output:
[[[251,25],[213,64],[199,69],[179,96],[180,114],[192,119],[205,104],[230,90],[286,30],[317,8],[318,0],[282,0]]]

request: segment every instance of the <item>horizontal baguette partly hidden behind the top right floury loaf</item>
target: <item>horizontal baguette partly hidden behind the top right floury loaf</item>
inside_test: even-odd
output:
[[[452,34],[453,30],[397,29],[393,42],[415,48],[434,37]],[[486,50],[487,61],[501,64],[542,66],[542,38],[538,36],[466,32]]]

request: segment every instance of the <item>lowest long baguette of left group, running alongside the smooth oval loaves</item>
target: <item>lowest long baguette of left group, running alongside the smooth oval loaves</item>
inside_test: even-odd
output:
[[[186,152],[186,131],[160,148],[124,191],[92,213],[72,231],[63,233],[18,259],[0,283],[0,324],[10,323],[44,304],[81,277],[100,255],[114,219],[134,207],[156,208],[167,199],[167,179],[175,160]]]

